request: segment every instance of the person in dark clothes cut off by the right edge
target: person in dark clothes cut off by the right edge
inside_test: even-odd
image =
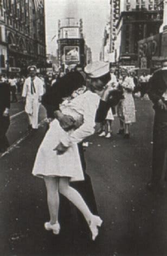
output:
[[[149,81],[149,97],[155,109],[153,124],[152,178],[149,190],[160,188],[165,178],[167,156],[167,60]],[[164,182],[164,181],[163,181]]]

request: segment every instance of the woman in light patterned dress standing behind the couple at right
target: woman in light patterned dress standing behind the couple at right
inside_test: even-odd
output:
[[[118,105],[118,116],[120,120],[120,130],[118,134],[124,134],[124,138],[130,138],[130,124],[136,122],[135,106],[132,92],[134,83],[128,76],[126,69],[120,71],[121,79],[119,86],[123,88],[124,99],[120,100]]]

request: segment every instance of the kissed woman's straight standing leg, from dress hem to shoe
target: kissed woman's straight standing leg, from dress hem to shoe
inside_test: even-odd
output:
[[[50,224],[58,222],[59,217],[59,178],[44,177],[47,188],[47,202],[50,214]]]

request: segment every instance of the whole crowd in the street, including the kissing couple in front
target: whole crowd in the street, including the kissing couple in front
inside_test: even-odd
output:
[[[14,88],[18,89],[18,81],[18,90],[22,93],[29,118],[29,130],[38,129],[40,103],[47,111],[48,131],[37,151],[33,168],[33,175],[43,178],[47,189],[50,221],[44,223],[46,230],[60,233],[59,197],[62,194],[81,211],[91,230],[92,240],[95,240],[102,220],[98,216],[90,177],[86,173],[82,141],[95,132],[110,138],[115,115],[118,115],[120,122],[118,134],[129,139],[130,125],[136,122],[134,97],[143,98],[145,93],[155,103],[156,111],[153,174],[147,188],[159,186],[167,155],[167,62],[163,65],[163,69],[152,76],[143,73],[139,78],[136,71],[110,68],[104,62],[89,64],[85,70],[76,65],[75,69],[66,70],[65,74],[60,70],[54,77],[37,76],[36,66],[28,67],[27,78],[5,80],[0,77],[2,150],[9,146],[5,134],[9,127],[10,92],[12,102],[16,102]],[[77,182],[73,181],[81,182],[77,189]]]

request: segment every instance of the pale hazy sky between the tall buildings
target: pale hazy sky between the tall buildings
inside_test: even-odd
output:
[[[45,0],[47,52],[56,53],[57,21],[65,17],[83,20],[86,43],[93,60],[99,60],[105,22],[110,13],[110,0]]]

